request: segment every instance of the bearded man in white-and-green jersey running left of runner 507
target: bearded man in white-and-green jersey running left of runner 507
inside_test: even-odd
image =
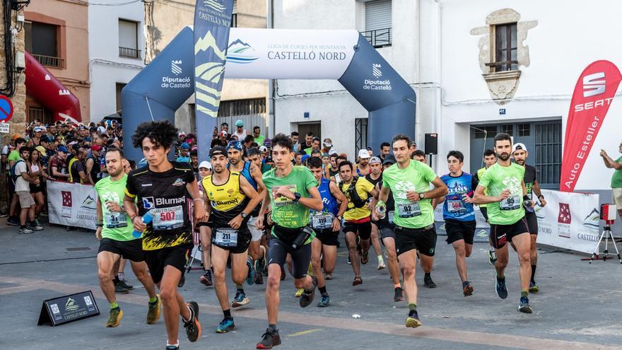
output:
[[[112,270],[121,257],[130,260],[131,269],[149,295],[147,323],[153,325],[160,318],[160,297],[155,294],[153,280],[147,272],[141,238],[134,237],[134,226],[123,208],[127,182],[124,161],[123,152],[119,148],[108,148],[106,167],[110,176],[95,185],[98,194],[95,237],[101,241],[97,257],[98,273],[102,292],[110,303],[106,327],[117,327],[123,317],[115,296],[115,284],[112,283]]]

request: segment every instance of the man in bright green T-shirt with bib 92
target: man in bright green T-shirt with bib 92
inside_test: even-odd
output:
[[[385,216],[385,202],[391,191],[395,201],[392,220],[395,224],[395,250],[404,274],[404,292],[409,305],[406,327],[419,327],[421,321],[417,314],[415,283],[417,251],[434,256],[436,230],[432,199],[447,194],[447,186],[428,165],[411,161],[410,144],[409,136],[397,134],[393,138],[393,153],[397,164],[382,173],[382,189],[375,211],[379,218]],[[430,189],[430,183],[435,186],[434,189]]]

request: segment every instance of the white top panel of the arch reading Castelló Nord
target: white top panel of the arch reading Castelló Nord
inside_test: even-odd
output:
[[[225,77],[339,79],[358,37],[356,30],[231,28]]]

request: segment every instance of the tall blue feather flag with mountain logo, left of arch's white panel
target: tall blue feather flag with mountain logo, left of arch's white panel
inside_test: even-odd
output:
[[[199,159],[209,158],[221,103],[233,0],[197,0],[194,8],[194,99]]]

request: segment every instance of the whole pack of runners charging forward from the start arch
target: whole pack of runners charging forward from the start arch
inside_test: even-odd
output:
[[[288,273],[300,307],[314,301],[317,307],[329,307],[326,281],[333,279],[341,233],[353,288],[364,283],[360,264],[368,264],[373,249],[377,269],[388,268],[392,279],[387,294],[392,293],[396,303],[406,300],[404,324],[420,327],[416,265],[425,274],[423,286],[436,288],[431,272],[438,205],[464,296],[477,290],[469,281],[467,257],[476,231],[474,206],[479,206],[491,226],[489,259],[496,270],[496,293],[502,299],[509,294],[505,268],[510,245],[520,262],[520,296],[514,294],[517,309],[532,313],[529,293],[539,291],[534,279],[538,233],[534,205],[544,206],[546,200],[534,167],[526,164],[527,148],[512,144],[509,135],[495,136],[493,149],[483,153],[486,166],[473,175],[462,170],[463,154],[450,151],[447,174],[442,176],[402,134],[381,144],[378,156],[371,148],[361,149],[351,161],[334,151],[330,139],[322,142],[312,134],[300,143],[298,133],[276,134],[266,140],[268,146],[248,142],[252,140],[242,139],[244,135],[227,136],[228,130],[218,132],[209,160],[199,164],[198,176],[191,163],[168,160],[179,142],[179,131],[168,122],[143,123],[127,141],[127,146],[141,148],[147,163],[136,170],[129,171],[120,148],[107,149],[108,176],[95,185],[98,272],[110,303],[107,327],[117,327],[123,317],[113,279],[115,263],[124,258],[148,293],[146,322],[155,323],[160,310],[163,313],[166,349],[180,347],[180,317],[189,342],[199,339],[199,305],[185,301],[178,290],[191,283],[184,281],[184,270],[196,243],[195,230],[204,269],[199,281],[213,286],[223,310],[223,320],[213,322],[217,333],[235,329],[231,308],[250,303],[243,285],[265,284],[268,327],[257,349],[281,344],[279,287]],[[236,285],[233,301],[226,284],[228,269]]]

